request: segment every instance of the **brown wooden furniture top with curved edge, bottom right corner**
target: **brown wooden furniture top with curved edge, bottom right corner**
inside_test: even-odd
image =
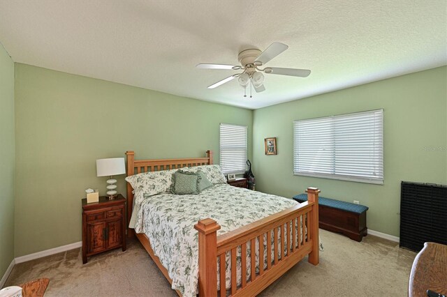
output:
[[[427,290],[447,296],[447,245],[424,243],[411,267],[409,297],[425,297]]]

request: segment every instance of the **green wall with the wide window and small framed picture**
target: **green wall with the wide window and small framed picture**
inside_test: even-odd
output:
[[[253,155],[256,188],[284,197],[309,186],[323,197],[369,206],[369,229],[399,236],[400,181],[447,183],[447,68],[385,79],[342,91],[256,109]],[[384,185],[293,175],[293,121],[384,109]],[[264,138],[278,137],[278,155]]]

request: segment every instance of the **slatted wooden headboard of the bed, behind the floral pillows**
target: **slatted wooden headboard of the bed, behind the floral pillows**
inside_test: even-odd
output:
[[[135,160],[134,151],[126,151],[127,155],[127,176],[140,174],[142,172],[158,172],[183,167],[194,167],[200,165],[212,164],[212,151],[207,151],[207,156],[203,158],[179,158],[179,159],[153,159],[153,160]],[[130,183],[127,183],[127,226],[131,220],[133,208],[133,189]],[[133,229],[128,228],[127,236],[133,236]]]

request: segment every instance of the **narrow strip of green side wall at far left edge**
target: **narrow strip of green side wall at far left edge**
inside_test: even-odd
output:
[[[14,259],[14,62],[0,44],[0,279]]]

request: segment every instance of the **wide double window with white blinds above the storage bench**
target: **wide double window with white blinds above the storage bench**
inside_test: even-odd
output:
[[[383,184],[383,109],[294,121],[293,173]]]

